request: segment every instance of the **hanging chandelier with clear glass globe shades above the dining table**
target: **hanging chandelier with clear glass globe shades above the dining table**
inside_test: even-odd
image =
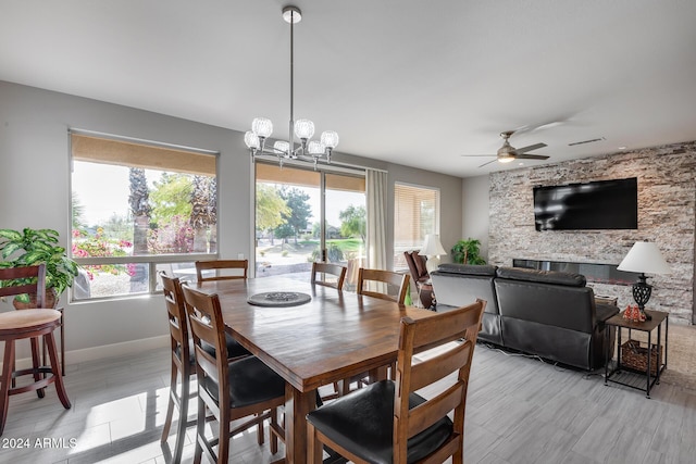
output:
[[[289,141],[278,140],[273,143],[273,147],[266,147],[265,141],[271,137],[271,134],[273,134],[273,123],[266,117],[257,117],[253,120],[251,130],[245,134],[244,141],[251,152],[252,160],[260,154],[271,154],[278,158],[281,166],[283,166],[283,160],[291,159],[313,162],[314,170],[316,170],[316,163],[319,161],[331,163],[331,152],[338,145],[338,134],[333,130],[325,130],[319,140],[311,140],[314,136],[314,123],[309,120],[294,120],[294,25],[301,21],[302,12],[297,7],[288,5],[283,8],[283,18],[290,24]],[[295,143],[295,137],[299,139],[298,146]]]

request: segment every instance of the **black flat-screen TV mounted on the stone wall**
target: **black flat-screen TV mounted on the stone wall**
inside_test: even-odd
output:
[[[635,177],[534,187],[537,230],[637,229]]]

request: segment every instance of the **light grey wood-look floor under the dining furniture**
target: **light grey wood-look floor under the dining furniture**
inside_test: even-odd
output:
[[[53,388],[42,400],[34,393],[10,399],[0,463],[167,462],[169,449],[159,441],[169,385],[165,349],[69,365],[65,383],[70,411]],[[694,463],[696,391],[662,384],[648,400],[637,390],[605,386],[599,374],[478,346],[465,428],[469,464]],[[192,460],[192,436],[189,428],[184,462]],[[254,432],[233,440],[231,462],[272,460]]]

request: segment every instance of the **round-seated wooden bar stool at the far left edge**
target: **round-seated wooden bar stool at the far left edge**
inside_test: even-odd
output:
[[[0,283],[3,284],[0,285],[0,297],[36,293],[38,306],[0,313],[0,341],[4,342],[0,377],[0,435],[2,435],[8,417],[9,400],[13,394],[36,391],[39,398],[44,398],[46,387],[53,384],[63,407],[69,410],[72,405],[63,385],[53,336],[53,331],[61,325],[62,313],[41,308],[46,301],[46,265],[0,268]],[[30,340],[32,346],[32,367],[15,371],[15,342],[26,338]],[[40,365],[39,338],[42,338],[45,347],[48,348],[49,366]],[[14,379],[26,375],[32,375],[34,381],[15,386]]]

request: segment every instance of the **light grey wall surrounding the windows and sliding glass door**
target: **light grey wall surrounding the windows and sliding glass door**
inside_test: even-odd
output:
[[[243,133],[5,81],[0,81],[0,228],[53,228],[66,244],[69,128],[220,151],[220,254],[252,253],[251,163]],[[439,186],[443,242],[451,247],[460,236],[460,178],[340,153],[335,159],[389,170],[391,191],[397,180]],[[393,196],[389,208],[387,236],[393,237]],[[113,354],[119,354],[115,350],[167,340],[160,296],[86,303],[63,300],[69,363],[110,353],[98,347],[117,344]]]

